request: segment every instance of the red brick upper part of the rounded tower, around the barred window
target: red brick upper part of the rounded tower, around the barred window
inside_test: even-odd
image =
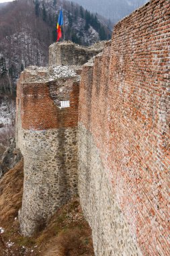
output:
[[[42,75],[40,79],[38,77],[35,79],[31,76],[31,71],[32,69],[24,71],[17,86],[17,95],[19,95],[17,98],[22,104],[23,129],[43,130],[77,126],[79,100],[77,75],[49,81],[49,77],[42,79]],[[70,100],[71,107],[60,109],[60,100]]]

